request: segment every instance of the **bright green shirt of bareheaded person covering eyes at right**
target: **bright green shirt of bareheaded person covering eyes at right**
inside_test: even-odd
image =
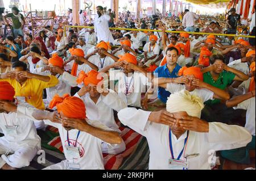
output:
[[[224,70],[222,71],[222,73],[220,73],[220,77],[218,77],[217,81],[214,81],[212,78],[212,74],[210,74],[210,72],[208,71],[207,73],[204,73],[204,82],[214,87],[218,87],[218,89],[225,90],[226,87],[231,85],[235,77],[236,75],[233,74],[232,72]],[[220,103],[219,99],[208,100],[207,102],[205,102],[205,104],[208,104],[208,105],[217,104],[217,103]]]

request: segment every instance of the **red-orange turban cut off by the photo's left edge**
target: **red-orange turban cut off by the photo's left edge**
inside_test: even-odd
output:
[[[13,100],[15,90],[9,82],[0,82],[0,99],[1,100]]]

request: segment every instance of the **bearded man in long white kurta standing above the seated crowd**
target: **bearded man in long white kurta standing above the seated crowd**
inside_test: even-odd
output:
[[[114,38],[112,33],[109,30],[109,22],[110,16],[108,14],[104,14],[103,7],[97,7],[97,15],[94,19],[94,30],[97,34],[97,43],[100,41],[105,41],[109,43],[113,43]]]

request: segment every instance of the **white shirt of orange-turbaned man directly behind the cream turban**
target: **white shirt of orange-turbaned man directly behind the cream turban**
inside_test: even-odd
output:
[[[185,90],[185,86],[177,83],[167,83],[166,90],[174,94],[175,92],[180,92],[181,90]],[[193,91],[189,91],[191,95],[197,95],[199,98],[203,100],[203,102],[207,102],[207,100],[212,100],[214,93],[207,89],[195,89]]]

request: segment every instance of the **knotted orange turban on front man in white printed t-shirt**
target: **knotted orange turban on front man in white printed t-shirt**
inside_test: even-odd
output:
[[[60,97],[56,94],[49,104],[49,108],[52,109],[55,106],[57,111],[59,113],[62,112],[66,117],[74,119],[86,118],[85,104],[81,99],[77,97],[69,96],[68,94]]]

